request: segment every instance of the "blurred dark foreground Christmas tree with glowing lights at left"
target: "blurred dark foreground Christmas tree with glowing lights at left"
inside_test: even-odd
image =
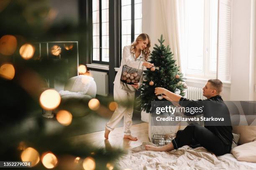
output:
[[[39,102],[41,94],[46,89],[58,94],[46,87],[45,78],[66,77],[65,72],[70,67],[76,70],[77,65],[73,67],[62,60],[49,59],[43,50],[40,53],[36,48],[37,42],[67,37],[68,40],[77,40],[84,34],[84,28],[71,21],[51,25],[51,12],[46,0],[6,0],[0,3],[0,160],[30,161],[30,166],[37,170],[112,170],[122,150],[95,147],[87,138],[74,143],[74,138],[71,138],[72,132],[84,128],[81,117],[68,110],[54,112],[56,116],[52,119],[42,116],[42,106],[49,98]],[[74,34],[58,33],[63,27]],[[59,37],[53,37],[55,33]],[[69,52],[75,48],[62,49]],[[76,58],[72,53],[69,56]],[[54,102],[55,97],[52,97]],[[60,97],[56,99],[60,100]],[[79,102],[72,103],[72,106],[83,112],[83,116],[89,112],[105,115],[110,111],[108,104],[111,100],[111,97],[97,97],[90,100],[94,101],[91,107],[89,100],[82,101],[83,107]]]

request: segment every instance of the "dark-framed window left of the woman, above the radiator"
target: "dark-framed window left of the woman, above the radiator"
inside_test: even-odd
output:
[[[108,0],[92,0],[92,62],[109,62]]]

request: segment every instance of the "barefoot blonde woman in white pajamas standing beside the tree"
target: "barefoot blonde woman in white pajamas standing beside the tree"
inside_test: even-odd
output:
[[[136,69],[143,70],[143,67],[150,68],[154,66],[148,61],[150,55],[150,38],[147,34],[142,33],[138,35],[136,40],[128,46],[123,48],[123,57],[121,60],[120,68],[115,76],[114,81],[114,100],[118,103],[125,101],[134,101],[135,90],[141,87],[141,81],[134,83],[134,85],[128,85],[120,81],[123,65],[128,65]],[[142,80],[142,79],[141,79]],[[131,135],[131,126],[133,116],[133,102],[131,105],[124,106],[118,105],[117,109],[113,113],[109,122],[105,126],[105,139],[108,139],[110,131],[114,130],[116,125],[124,117],[124,138],[130,140],[138,140],[136,137]]]

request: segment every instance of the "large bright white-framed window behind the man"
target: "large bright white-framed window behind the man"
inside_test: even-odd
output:
[[[186,75],[216,77],[218,0],[184,2]]]

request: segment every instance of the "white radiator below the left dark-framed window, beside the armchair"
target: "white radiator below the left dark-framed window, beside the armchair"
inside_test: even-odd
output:
[[[97,85],[97,95],[108,96],[108,72],[90,70],[90,76]]]

